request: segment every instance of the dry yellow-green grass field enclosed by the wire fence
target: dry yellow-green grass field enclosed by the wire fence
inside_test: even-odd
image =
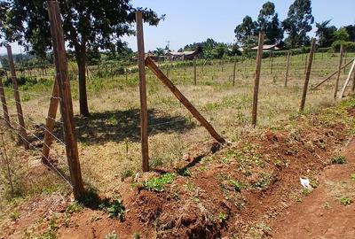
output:
[[[348,54],[347,60],[354,57],[355,54]],[[338,58],[338,54],[316,55],[311,86],[337,69]],[[304,85],[304,59],[305,55],[292,57],[288,87],[285,88],[286,58],[274,58],[273,63],[270,58],[264,58],[256,129],[250,127],[255,60],[237,63],[234,87],[232,61],[225,60],[223,64],[216,60],[209,62],[203,67],[203,73],[199,62],[196,86],[193,85],[193,66],[177,67],[173,63],[169,76],[218,133],[228,141],[236,142],[242,140],[241,134],[245,131],[257,132],[264,127],[278,127],[280,120],[288,120],[297,114]],[[72,71],[73,67],[70,64],[69,70]],[[350,66],[342,71],[341,87],[349,69]],[[167,71],[166,65],[162,65],[162,70]],[[148,69],[146,75],[150,164],[153,168],[174,167],[189,148],[209,140],[210,136]],[[45,122],[51,81],[20,87],[26,124],[29,131],[39,138],[43,134],[40,134],[41,128],[37,125]],[[309,90],[306,112],[316,112],[324,106],[335,104],[334,85],[335,77],[319,89]],[[71,81],[71,87],[84,181],[102,192],[114,189],[116,185],[111,183],[114,178],[130,176],[140,170],[138,73],[129,73],[127,81],[124,74],[100,79],[91,77],[88,80],[91,117],[88,118],[77,116],[77,81]],[[12,91],[6,90],[5,93],[14,121],[16,111],[11,100]],[[57,126],[55,132],[62,138],[60,123]],[[36,142],[34,135],[29,136]],[[40,146],[37,143],[37,149],[41,149]],[[65,156],[60,143],[55,143],[53,147],[59,155]],[[40,157],[37,150],[32,152]]]

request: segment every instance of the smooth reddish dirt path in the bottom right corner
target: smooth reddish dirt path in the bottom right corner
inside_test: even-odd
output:
[[[355,139],[343,155],[347,164],[327,166],[319,187],[274,222],[273,238],[355,238]],[[343,197],[352,204],[341,204]]]

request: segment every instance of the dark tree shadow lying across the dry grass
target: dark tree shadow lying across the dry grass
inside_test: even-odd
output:
[[[149,135],[184,133],[195,127],[184,117],[171,117],[154,109],[148,111]],[[140,141],[140,110],[92,112],[89,117],[75,116],[77,141],[81,143]],[[43,125],[35,126],[36,136],[43,139]],[[54,135],[63,139],[62,127],[57,124]],[[36,139],[35,139],[36,141]]]

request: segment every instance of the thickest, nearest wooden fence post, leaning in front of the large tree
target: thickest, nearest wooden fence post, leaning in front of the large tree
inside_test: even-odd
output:
[[[56,66],[56,77],[59,85],[59,96],[61,98],[60,112],[64,123],[67,163],[69,166],[75,200],[80,200],[84,196],[83,179],[75,136],[73,104],[67,72],[67,56],[59,11],[59,2],[48,1],[47,3],[51,25],[54,63]]]

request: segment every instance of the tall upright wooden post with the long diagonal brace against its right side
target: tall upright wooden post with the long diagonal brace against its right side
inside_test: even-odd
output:
[[[136,12],[137,42],[138,42],[138,69],[139,69],[139,92],[140,92],[140,133],[142,143],[142,170],[149,171],[148,152],[148,110],[146,105],[146,65],[145,48],[143,37],[142,12]]]

